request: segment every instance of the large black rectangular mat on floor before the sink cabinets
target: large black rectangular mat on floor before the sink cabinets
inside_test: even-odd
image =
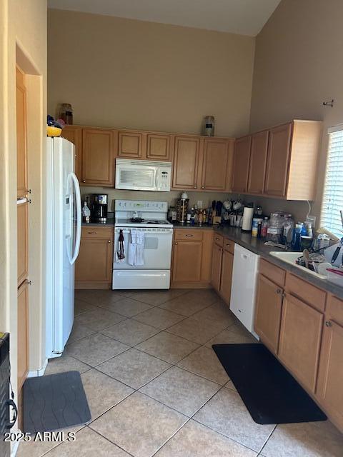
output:
[[[327,419],[263,344],[214,344],[212,348],[255,422],[272,424]]]

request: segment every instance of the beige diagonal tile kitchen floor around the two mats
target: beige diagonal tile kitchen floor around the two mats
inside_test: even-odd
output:
[[[18,457],[343,456],[329,421],[252,421],[211,346],[255,340],[214,291],[76,291],[75,316],[46,374],[80,371],[92,420]]]

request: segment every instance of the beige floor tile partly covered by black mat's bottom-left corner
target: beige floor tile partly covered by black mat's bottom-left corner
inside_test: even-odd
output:
[[[254,422],[239,394],[229,388],[216,393],[194,419],[257,452],[274,428]]]

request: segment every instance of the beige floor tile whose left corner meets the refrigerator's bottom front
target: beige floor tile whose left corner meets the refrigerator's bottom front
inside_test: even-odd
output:
[[[75,357],[91,366],[99,365],[109,358],[126,351],[129,346],[115,341],[108,336],[94,333],[66,347],[66,355]]]

